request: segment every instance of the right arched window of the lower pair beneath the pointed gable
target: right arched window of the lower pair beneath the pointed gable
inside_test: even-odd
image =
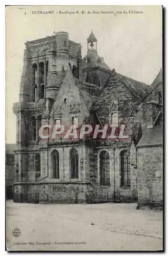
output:
[[[75,148],[71,148],[70,150],[70,178],[79,178],[78,151]]]

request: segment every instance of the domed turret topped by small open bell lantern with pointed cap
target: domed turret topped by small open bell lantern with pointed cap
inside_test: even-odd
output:
[[[98,55],[98,40],[91,31],[87,38],[87,54],[82,61],[83,80],[103,88],[110,76],[111,69]]]

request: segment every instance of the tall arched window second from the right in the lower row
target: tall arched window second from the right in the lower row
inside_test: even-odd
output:
[[[103,186],[110,185],[110,157],[105,150],[100,153],[100,184]]]

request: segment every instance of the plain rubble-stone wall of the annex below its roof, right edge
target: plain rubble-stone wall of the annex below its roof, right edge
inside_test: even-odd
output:
[[[138,147],[138,204],[162,205],[163,202],[163,164],[162,147]]]

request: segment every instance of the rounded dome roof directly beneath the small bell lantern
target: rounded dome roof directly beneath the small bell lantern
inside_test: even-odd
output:
[[[88,59],[87,63],[85,63],[85,58]],[[101,62],[101,58],[96,52],[89,51],[83,58],[82,69],[90,69],[96,67],[111,71],[111,69],[107,66],[107,64],[104,61]]]

